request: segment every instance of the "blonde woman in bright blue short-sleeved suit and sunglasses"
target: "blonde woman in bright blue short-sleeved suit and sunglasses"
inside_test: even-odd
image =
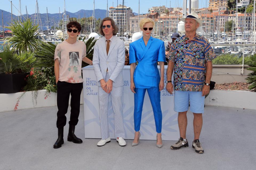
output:
[[[134,141],[132,146],[139,143],[141,114],[145,92],[147,90],[155,117],[157,131],[157,147],[162,145],[162,111],[160,105],[160,91],[164,88],[164,42],[151,37],[154,21],[150,18],[142,19],[139,23],[143,37],[130,43],[129,60],[131,74],[131,91],[134,93]],[[138,65],[136,66],[136,61]],[[160,65],[161,77],[157,68]],[[136,67],[136,69],[135,69]]]

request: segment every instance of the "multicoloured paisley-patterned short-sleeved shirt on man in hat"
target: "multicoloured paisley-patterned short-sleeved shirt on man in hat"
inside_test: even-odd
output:
[[[216,56],[204,37],[196,34],[189,40],[185,34],[172,43],[167,58],[174,62],[175,90],[202,91],[206,62]]]

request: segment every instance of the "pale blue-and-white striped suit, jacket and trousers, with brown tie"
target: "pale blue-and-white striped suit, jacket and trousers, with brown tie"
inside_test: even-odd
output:
[[[113,36],[107,54],[105,37],[97,40],[94,45],[93,67],[97,78],[98,100],[99,100],[99,120],[101,125],[101,138],[105,140],[109,135],[109,122],[107,116],[108,99],[107,94],[102,88],[101,79],[106,82],[108,79],[113,81],[113,88],[110,92],[111,102],[114,111],[115,137],[125,138],[123,127],[123,67],[125,65],[125,44]],[[108,70],[108,73],[106,71]]]

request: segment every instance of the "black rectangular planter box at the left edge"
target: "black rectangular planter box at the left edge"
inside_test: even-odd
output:
[[[29,73],[0,74],[0,93],[17,93],[26,85],[26,75]]]

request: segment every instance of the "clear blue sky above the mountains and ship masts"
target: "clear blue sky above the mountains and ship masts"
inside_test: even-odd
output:
[[[0,0],[0,9],[11,12],[11,0]],[[117,0],[108,0],[108,6],[117,6]],[[12,0],[13,5],[19,8],[19,0]],[[21,13],[26,14],[26,6],[29,14],[35,13],[35,3],[36,0],[21,0]],[[125,0],[125,5],[131,7],[133,12],[138,13],[139,0]],[[170,0],[140,0],[140,13],[147,13],[148,8],[152,6],[162,6],[165,5],[170,7]],[[182,7],[182,0],[171,0],[171,7]],[[209,0],[207,1],[209,3]],[[118,4],[122,4],[119,0]],[[59,7],[60,11],[63,12],[64,0],[38,0],[40,13],[46,13],[46,7],[48,8],[48,13],[58,13]],[[13,6],[13,14],[18,15],[18,10]],[[206,1],[199,0],[199,8],[206,7]],[[95,0],[95,9],[106,9],[107,0]],[[66,10],[69,12],[77,12],[81,9],[91,10],[93,9],[93,0],[66,0]],[[1,12],[1,11],[0,11]]]

